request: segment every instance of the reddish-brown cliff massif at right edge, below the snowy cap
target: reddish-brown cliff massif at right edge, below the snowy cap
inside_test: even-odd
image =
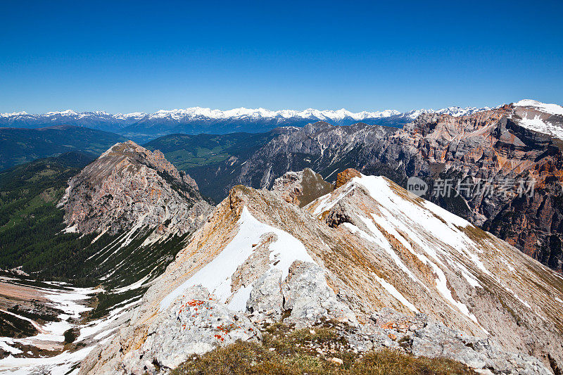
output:
[[[460,191],[464,203],[457,208],[453,199],[430,198],[561,271],[561,141],[524,127],[521,111],[506,106],[468,117],[422,115],[391,137],[377,160],[428,182],[438,177],[492,182],[493,193],[476,184]],[[501,193],[505,181],[512,191]],[[519,181],[527,186],[534,181],[533,194],[518,194]]]

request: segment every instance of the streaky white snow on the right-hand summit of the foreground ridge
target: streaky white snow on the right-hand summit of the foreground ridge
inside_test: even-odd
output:
[[[448,283],[446,276],[453,272],[467,281],[469,287],[482,288],[478,275],[472,270],[480,269],[484,274],[491,275],[479,258],[483,249],[464,232],[464,229],[472,227],[472,224],[434,203],[415,196],[405,196],[408,194],[406,191],[398,191],[397,189],[400,189],[398,186],[391,185],[392,183],[384,177],[365,175],[354,177],[341,188],[342,192],[338,196],[330,193],[311,203],[315,208],[313,213],[315,216],[319,216],[322,212],[334,207],[354,189],[364,189],[377,202],[377,212],[372,212],[371,217],[358,216],[369,234],[350,223],[344,223],[343,226],[353,234],[376,243],[408,277],[423,284],[401,260],[384,232],[388,236],[393,236],[412,255],[433,270],[434,288],[450,308],[461,312],[467,319],[480,326],[483,332],[486,332],[469,307],[453,297],[455,293],[450,290],[453,287]],[[405,303],[406,299],[400,295],[396,286],[391,284],[392,281],[385,281],[389,285],[379,282],[388,293],[412,310],[413,306]],[[393,286],[393,288],[389,286]],[[429,290],[428,286],[424,284],[423,286]]]

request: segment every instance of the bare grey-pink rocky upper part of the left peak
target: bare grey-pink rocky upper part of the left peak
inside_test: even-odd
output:
[[[73,177],[64,206],[65,222],[84,234],[134,227],[184,234],[210,212],[189,175],[133,141],[115,144]]]

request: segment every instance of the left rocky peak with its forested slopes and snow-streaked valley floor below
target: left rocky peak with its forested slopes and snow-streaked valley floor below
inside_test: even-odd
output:
[[[0,371],[70,371],[129,319],[211,210],[188,175],[131,141],[86,167],[68,159],[0,173],[9,178],[0,184],[0,261],[11,269],[0,280],[9,315],[0,323],[37,329],[0,338]]]

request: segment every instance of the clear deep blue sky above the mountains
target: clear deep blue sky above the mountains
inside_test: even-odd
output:
[[[2,1],[0,112],[563,102],[563,1]]]

